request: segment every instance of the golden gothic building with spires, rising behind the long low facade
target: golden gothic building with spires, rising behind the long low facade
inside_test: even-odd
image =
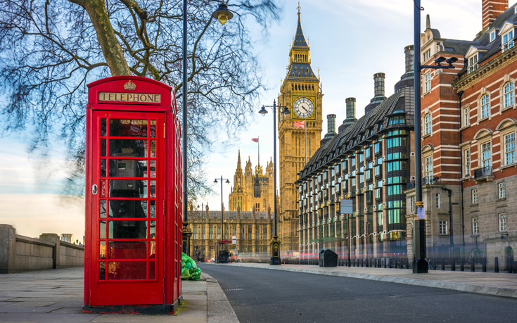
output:
[[[273,160],[266,163],[266,171],[264,172],[260,162],[253,166],[251,160],[244,167],[241,165],[241,150],[238,151],[237,168],[234,175],[234,186],[231,187],[229,196],[230,211],[252,211],[268,212],[269,208],[273,209]],[[260,186],[260,196],[255,196],[255,183]]]

